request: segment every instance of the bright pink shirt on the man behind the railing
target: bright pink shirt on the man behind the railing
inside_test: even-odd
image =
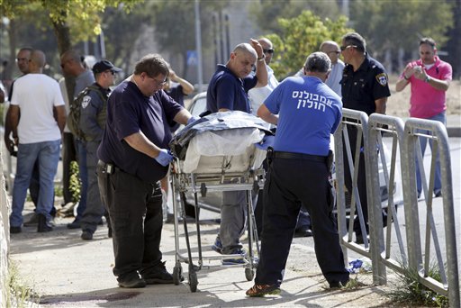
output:
[[[410,66],[411,68],[415,66],[424,68],[420,59],[412,61]],[[451,65],[438,59],[438,57],[436,57],[436,62],[432,67],[424,69],[429,77],[448,81],[452,79],[453,70]],[[438,90],[424,80],[420,80],[414,76],[410,77],[409,82],[411,84],[410,116],[428,119],[447,109],[446,91]]]

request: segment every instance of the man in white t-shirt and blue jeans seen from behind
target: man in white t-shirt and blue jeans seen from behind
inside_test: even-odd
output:
[[[18,153],[10,233],[22,231],[25,197],[33,164],[37,159],[41,171],[36,209],[39,216],[37,231],[52,230],[50,209],[53,206],[53,181],[59,163],[59,145],[66,124],[66,110],[58,82],[42,74],[45,63],[45,54],[41,50],[33,50],[29,60],[30,73],[15,81],[11,100],[11,124]]]

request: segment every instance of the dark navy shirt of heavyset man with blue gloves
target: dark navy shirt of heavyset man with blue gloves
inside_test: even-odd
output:
[[[113,163],[144,182],[157,182],[167,175],[167,167],[131,148],[124,138],[142,131],[159,148],[167,149],[172,138],[168,122],[182,109],[163,90],[147,97],[134,83],[123,81],[107,101],[107,121],[97,150],[98,159]]]

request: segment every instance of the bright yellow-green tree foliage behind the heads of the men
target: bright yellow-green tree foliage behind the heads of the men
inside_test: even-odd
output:
[[[346,27],[347,22],[348,19],[344,16],[336,21],[329,18],[322,21],[311,11],[303,11],[291,19],[279,19],[281,34],[267,35],[276,49],[271,62],[276,77],[294,75],[303,67],[307,56],[319,50],[322,41],[340,42],[342,35],[352,31]]]

